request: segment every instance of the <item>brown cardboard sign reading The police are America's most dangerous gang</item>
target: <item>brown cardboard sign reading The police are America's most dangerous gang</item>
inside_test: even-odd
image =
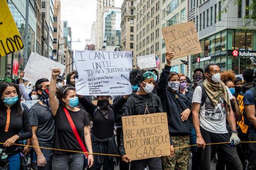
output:
[[[122,117],[125,154],[131,160],[170,155],[167,114]]]

